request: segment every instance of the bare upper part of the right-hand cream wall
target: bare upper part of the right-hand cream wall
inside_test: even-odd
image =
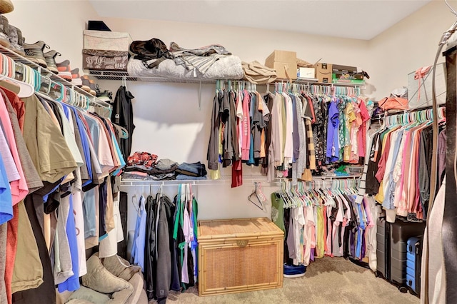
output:
[[[449,1],[456,8],[457,1]],[[376,100],[408,86],[408,74],[433,64],[438,41],[456,20],[444,1],[431,1],[369,41],[368,71]],[[443,57],[438,62],[444,61]]]

